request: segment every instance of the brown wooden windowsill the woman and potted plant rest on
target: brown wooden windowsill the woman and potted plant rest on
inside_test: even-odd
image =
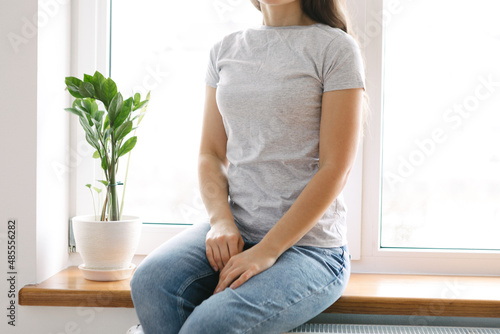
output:
[[[69,267],[19,292],[20,305],[134,307],[130,280],[94,282]],[[324,313],[500,317],[500,277],[352,274]]]

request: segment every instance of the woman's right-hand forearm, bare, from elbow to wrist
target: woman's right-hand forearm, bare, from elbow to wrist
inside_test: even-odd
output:
[[[297,243],[340,195],[348,175],[333,166],[318,170],[290,209],[262,239],[261,246],[279,257]]]

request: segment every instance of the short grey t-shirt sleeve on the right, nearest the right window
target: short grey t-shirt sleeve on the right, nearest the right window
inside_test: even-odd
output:
[[[334,39],[326,51],[323,91],[350,88],[365,88],[365,71],[358,44],[344,34]]]

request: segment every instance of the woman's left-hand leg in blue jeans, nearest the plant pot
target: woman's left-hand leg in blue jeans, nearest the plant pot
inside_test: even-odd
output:
[[[194,225],[148,255],[131,287],[136,313],[146,333],[177,333],[218,282],[205,252],[208,223]]]

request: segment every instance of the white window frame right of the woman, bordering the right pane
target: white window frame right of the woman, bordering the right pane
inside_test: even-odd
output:
[[[384,0],[359,0],[358,32],[366,59],[367,92],[371,117],[363,151],[363,221],[361,259],[353,261],[353,272],[414,273],[443,275],[500,275],[500,253],[485,250],[395,249],[380,247],[380,202],[382,172],[383,15],[405,10],[398,0],[384,12]],[[389,0],[386,0],[389,1]],[[361,17],[364,17],[361,18]]]

